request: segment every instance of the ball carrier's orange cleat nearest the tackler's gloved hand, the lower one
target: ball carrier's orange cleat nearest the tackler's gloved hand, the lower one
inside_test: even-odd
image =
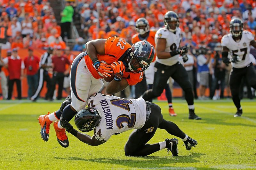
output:
[[[58,122],[59,121],[55,121],[53,123],[53,127],[55,129],[55,132],[56,132],[56,136],[57,136],[57,141],[59,142],[59,144],[64,147],[64,148],[67,148],[69,146],[69,142],[68,142],[68,137],[66,135],[66,130],[63,128],[63,129],[60,129],[58,127]]]

